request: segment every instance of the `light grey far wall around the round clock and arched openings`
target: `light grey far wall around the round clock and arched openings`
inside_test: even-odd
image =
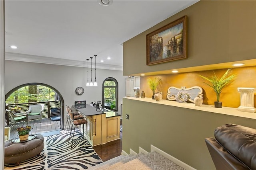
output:
[[[102,101],[102,82],[105,78],[113,77],[118,82],[118,112],[121,113],[121,101],[125,96],[126,78],[122,75],[122,71],[97,69],[96,79],[98,86],[86,86],[87,68],[84,67],[7,60],[5,64],[5,94],[22,84],[32,82],[44,83],[56,88],[64,98],[64,104],[68,106],[74,105],[74,101],[78,100],[86,100],[86,104]],[[93,82],[94,77],[95,73],[93,71]],[[75,93],[78,86],[84,88],[84,94],[77,95]]]

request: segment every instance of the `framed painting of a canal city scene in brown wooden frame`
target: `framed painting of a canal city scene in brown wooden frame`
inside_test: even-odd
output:
[[[188,58],[187,23],[183,16],[147,35],[147,65]]]

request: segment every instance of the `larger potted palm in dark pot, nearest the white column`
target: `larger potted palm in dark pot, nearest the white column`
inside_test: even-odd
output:
[[[214,92],[216,93],[217,96],[217,102],[214,102],[214,107],[216,108],[222,108],[222,102],[220,102],[220,93],[222,92],[222,88],[226,86],[227,84],[231,83],[232,80],[235,78],[236,75],[232,74],[231,68],[228,68],[228,70],[223,74],[221,78],[219,78],[215,72],[214,75],[210,77],[204,77],[199,75],[205,80],[208,80],[209,83],[204,82],[211,88],[213,88]]]

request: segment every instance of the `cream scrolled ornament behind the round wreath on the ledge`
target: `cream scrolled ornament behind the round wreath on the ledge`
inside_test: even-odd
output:
[[[176,100],[175,99],[175,95],[178,94],[178,92],[180,90],[184,90],[184,91],[188,91],[188,93],[190,94],[190,98],[188,99],[188,101],[194,103],[194,98],[196,98],[198,95],[200,95],[203,98],[203,89],[199,86],[194,86],[191,88],[186,88],[186,86],[182,86],[181,88],[176,88],[176,87],[169,87],[167,90],[167,99],[168,100]]]

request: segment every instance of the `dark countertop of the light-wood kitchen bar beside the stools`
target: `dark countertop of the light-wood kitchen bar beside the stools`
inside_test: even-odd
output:
[[[114,111],[96,111],[96,107],[90,106],[88,104],[85,105],[85,108],[76,108],[74,105],[72,108],[75,108],[76,110],[80,111],[83,113],[85,116],[92,116],[92,115],[101,115],[101,114],[106,114],[106,117],[113,117],[113,116],[120,116],[121,114],[116,113]]]

